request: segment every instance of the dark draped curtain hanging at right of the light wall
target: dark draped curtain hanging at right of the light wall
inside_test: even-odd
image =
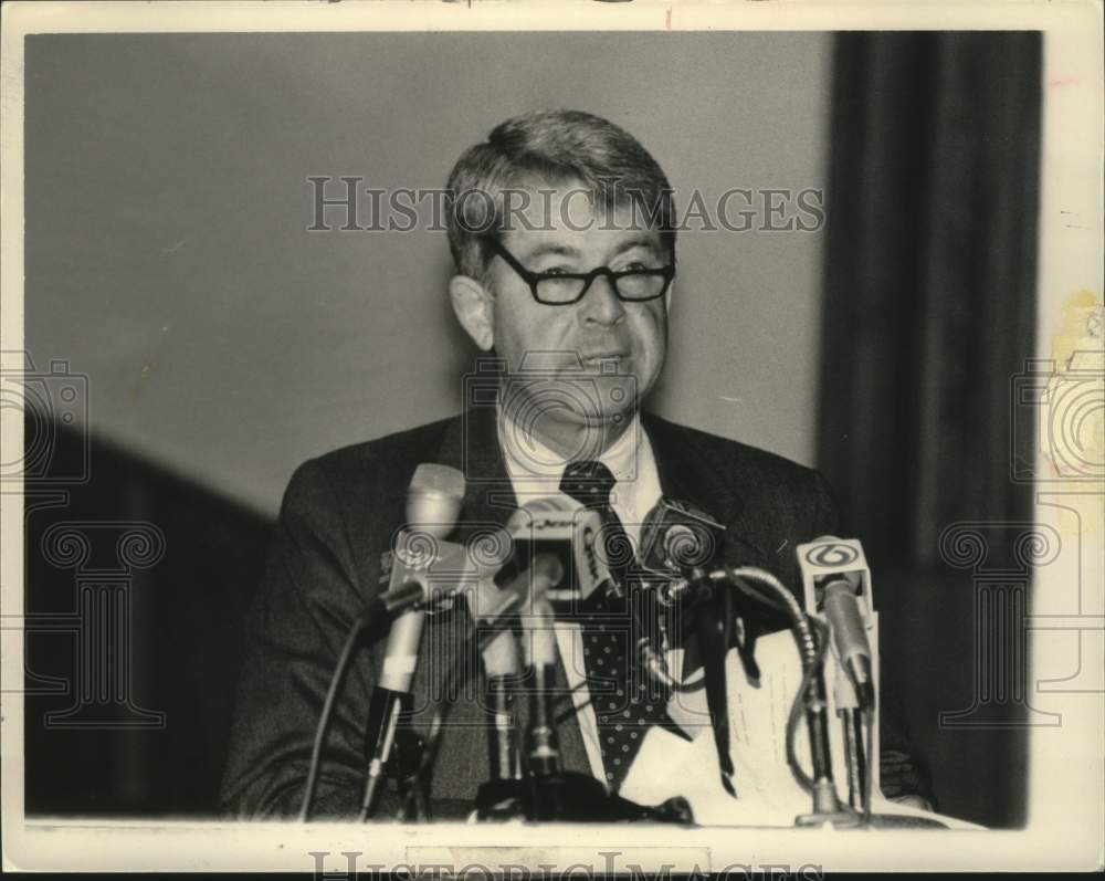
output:
[[[1041,42],[840,34],[827,196],[818,458],[872,564],[884,705],[908,719],[938,807],[1003,827],[1024,821],[1031,714],[982,681],[985,567],[941,536],[1031,523],[1010,384],[1034,352]],[[1011,558],[982,541],[987,570]],[[1027,578],[1007,579],[1002,627],[1020,626]]]

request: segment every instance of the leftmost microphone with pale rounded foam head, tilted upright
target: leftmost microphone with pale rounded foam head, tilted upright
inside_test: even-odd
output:
[[[399,613],[392,620],[383,663],[369,702],[365,744],[368,776],[361,800],[364,818],[371,816],[375,809],[383,769],[396,741],[400,712],[411,701],[427,615],[418,606],[433,598],[434,585],[440,584],[443,575],[463,573],[465,568],[464,548],[443,541],[456,526],[464,489],[464,475],[456,469],[420,464],[407,490],[408,528],[398,536],[390,558],[391,589],[373,604],[387,610],[389,616]]]

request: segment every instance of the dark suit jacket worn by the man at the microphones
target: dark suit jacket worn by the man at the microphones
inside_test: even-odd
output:
[[[801,599],[794,547],[839,526],[821,475],[655,416],[642,413],[641,423],[663,493],[693,502],[725,524],[729,564],[767,568]],[[263,817],[298,809],[330,674],[351,622],[381,589],[381,555],[404,522],[407,487],[422,462],[453,465],[467,479],[457,541],[480,524],[504,524],[516,506],[493,408],[337,450],[293,475],[248,623],[222,788],[228,810]],[[464,627],[462,615],[430,619],[414,688],[414,723],[423,733]],[[368,704],[382,643],[358,655],[336,703],[315,817],[357,812]],[[557,685],[566,689],[562,664]],[[488,774],[485,719],[473,694],[455,704],[442,738],[432,786],[439,817],[465,810]],[[570,700],[560,706],[570,707]],[[518,709],[524,725],[525,707]],[[558,730],[562,764],[588,773],[579,724],[570,712],[566,715]],[[885,720],[882,741],[884,793],[927,795],[901,736]]]

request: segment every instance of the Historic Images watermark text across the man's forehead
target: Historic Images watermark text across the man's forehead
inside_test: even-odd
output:
[[[650,198],[619,188],[596,192],[588,187],[506,188],[453,192],[441,188],[372,187],[359,175],[312,175],[308,232],[445,232],[452,219],[472,234],[495,229],[569,230],[651,229],[665,204],[683,204],[671,226],[678,232],[819,232],[825,223],[824,191],[814,187],[729,187],[709,193],[691,190],[683,198],[666,191]],[[666,200],[666,201],[665,201]],[[596,206],[628,206],[592,213]]]

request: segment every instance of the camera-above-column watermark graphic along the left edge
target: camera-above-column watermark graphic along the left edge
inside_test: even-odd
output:
[[[90,390],[88,376],[67,360],[51,359],[40,369],[28,352],[2,353],[0,405],[6,419],[22,421],[23,443],[4,450],[0,492],[22,502],[24,536],[23,613],[2,616],[3,630],[23,634],[22,681],[4,683],[4,691],[70,695],[67,707],[43,714],[46,728],[164,728],[166,714],[140,706],[133,689],[135,580],[162,559],[162,531],[138,520],[64,520],[36,545],[28,541],[33,516],[64,511],[73,490],[92,479]],[[30,558],[72,571],[67,608],[41,611],[30,602]],[[46,637],[72,641],[71,674],[31,670],[31,643]]]

